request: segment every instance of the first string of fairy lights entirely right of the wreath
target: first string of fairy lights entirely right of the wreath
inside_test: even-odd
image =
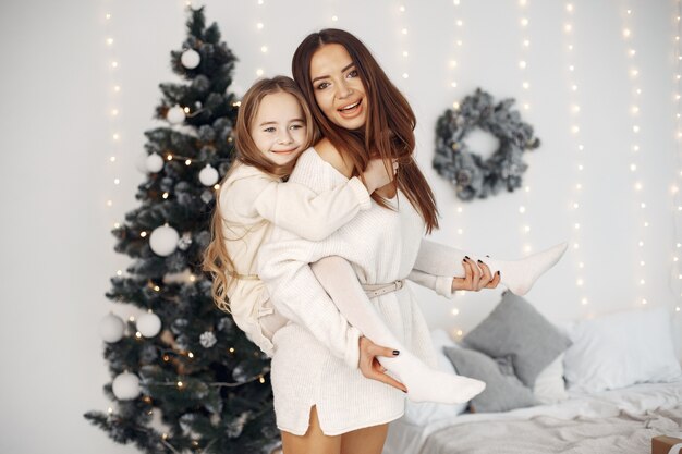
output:
[[[574,14],[575,4],[572,2],[565,2],[563,5],[564,22],[563,22],[563,36],[564,36],[564,64],[567,71],[568,81],[568,100],[569,100],[569,115],[570,124],[569,131],[572,137],[571,148],[574,156],[575,167],[575,185],[573,186],[572,200],[569,206],[571,212],[571,221],[573,223],[571,233],[572,256],[575,260],[575,286],[577,287],[579,298],[582,306],[586,306],[589,299],[585,292],[585,275],[587,270],[585,268],[585,254],[581,248],[581,230],[584,229],[584,221],[581,210],[581,203],[584,193],[584,173],[585,170],[585,145],[581,137],[581,111],[582,107],[579,102],[579,86],[576,82],[576,65],[575,65],[575,39],[574,39]]]

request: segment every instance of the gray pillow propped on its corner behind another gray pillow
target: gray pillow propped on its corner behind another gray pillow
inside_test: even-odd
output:
[[[500,304],[463,343],[488,356],[511,356],[516,377],[528,388],[571,345],[569,338],[511,292],[504,292]]]

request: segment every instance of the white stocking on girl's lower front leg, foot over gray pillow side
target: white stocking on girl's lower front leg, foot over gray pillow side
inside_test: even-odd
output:
[[[326,257],[310,268],[346,320],[377,345],[397,349],[398,356],[379,363],[407,388],[414,402],[459,404],[483,392],[485,383],[428,367],[398,341],[367,298],[351,265],[340,257]]]

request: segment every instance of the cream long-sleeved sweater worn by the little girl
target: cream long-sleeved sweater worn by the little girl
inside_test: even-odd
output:
[[[308,240],[321,240],[369,209],[369,194],[358,179],[332,191],[315,193],[296,183],[282,183],[260,170],[240,163],[220,188],[220,216],[226,248],[238,279],[228,291],[234,322],[269,356],[272,343],[260,317],[272,314],[272,305],[257,274],[256,253],[267,242],[272,225]]]

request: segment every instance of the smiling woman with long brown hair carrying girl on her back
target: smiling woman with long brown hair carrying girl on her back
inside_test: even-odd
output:
[[[424,233],[438,220],[434,194],[413,157],[415,118],[367,48],[346,32],[325,29],[303,40],[292,66],[324,138],[301,156],[290,181],[318,192],[336,187],[366,167],[367,150],[398,159],[400,167],[393,183],[373,194],[376,204],[327,240],[307,242],[280,230],[260,250],[259,275],[293,321],[272,340],[278,427],[285,454],[379,454],[388,422],[404,412],[405,394],[376,360],[393,353],[349,328],[308,263],[327,256],[348,260],[362,284],[381,290],[372,304],[393,334],[430,365],[436,361],[428,327],[402,286],[415,262],[426,265],[421,283],[435,290],[449,275],[446,293],[495,287],[500,278],[465,259],[466,275],[453,279],[437,267],[448,262],[451,249],[423,246]],[[344,358],[357,355],[358,345],[360,370],[351,369]]]

